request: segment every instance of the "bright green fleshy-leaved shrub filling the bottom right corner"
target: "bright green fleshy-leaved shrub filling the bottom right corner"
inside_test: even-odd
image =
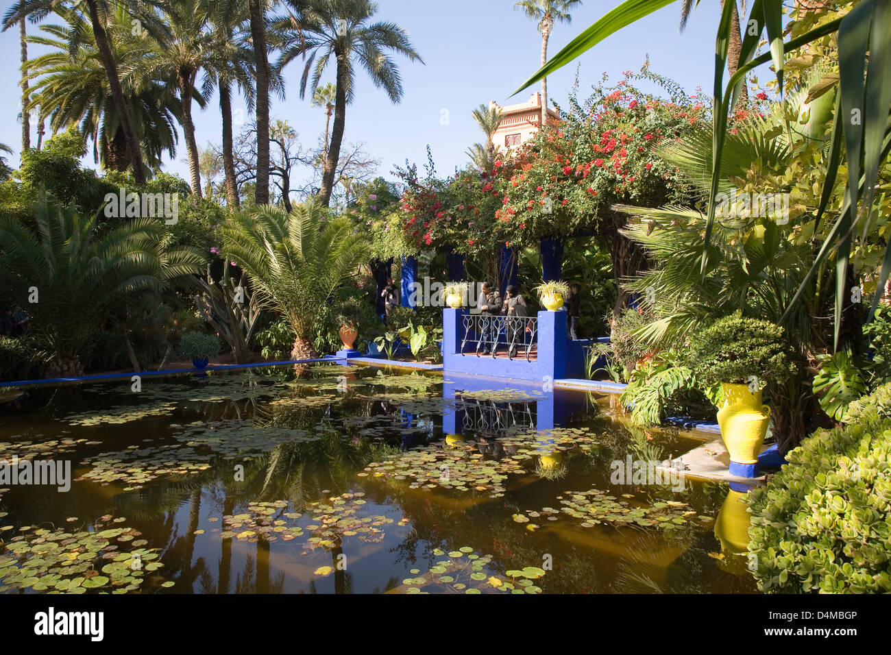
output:
[[[758,588],[891,592],[891,420],[821,430],[786,459],[748,495]]]

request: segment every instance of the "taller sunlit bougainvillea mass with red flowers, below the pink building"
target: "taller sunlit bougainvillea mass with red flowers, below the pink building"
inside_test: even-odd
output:
[[[649,80],[669,96],[644,93]],[[707,119],[705,104],[644,66],[610,86],[604,75],[593,94],[570,98],[560,121],[523,144],[499,179],[514,242],[598,230],[615,203],[657,207],[687,200],[687,185],[658,155],[666,140]]]

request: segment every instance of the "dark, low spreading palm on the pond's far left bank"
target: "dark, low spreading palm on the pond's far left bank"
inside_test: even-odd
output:
[[[200,273],[205,261],[199,250],[173,246],[156,218],[121,221],[97,238],[96,216],[44,192],[34,223],[0,215],[0,299],[25,308],[31,332],[55,354],[57,372],[81,371],[80,348],[124,299]]]

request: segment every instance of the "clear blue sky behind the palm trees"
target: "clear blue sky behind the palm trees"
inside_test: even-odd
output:
[[[0,0],[0,4],[5,12],[11,0]],[[573,12],[571,23],[555,27],[549,55],[617,4],[619,0],[586,0]],[[512,0],[380,0],[379,6],[377,17],[394,20],[407,29],[426,65],[399,61],[405,97],[398,105],[390,103],[360,71],[356,102],[347,107],[345,143],[366,143],[366,150],[381,160],[379,174],[385,177],[391,177],[394,164],[402,165],[406,158],[423,164],[429,143],[437,172],[449,174],[466,161],[464,151],[470,143],[481,141],[470,111],[490,100],[503,105],[524,102],[533,90],[509,97],[538,68],[541,40],[535,23],[514,11]],[[678,32],[679,11],[679,2],[670,4],[585,53],[578,60],[583,96],[601,73],[619,78],[625,70],[639,70],[648,54],[652,70],[674,78],[688,93],[701,86],[710,94],[720,4],[700,4],[683,35]],[[36,31],[37,27],[29,24],[29,33]],[[30,46],[30,56],[38,52],[37,46]],[[15,167],[20,148],[17,29],[0,35],[0,57],[6,61],[0,68],[0,88],[5,90],[0,143],[15,151],[9,158]],[[288,96],[284,101],[274,99],[271,116],[288,120],[301,142],[310,145],[323,132],[325,117],[322,110],[310,106],[308,98],[300,100],[300,72],[294,64],[285,70]],[[565,100],[575,74],[574,64],[548,78],[549,95],[558,102]],[[333,74],[323,81],[333,81]],[[235,107],[243,107],[240,100]],[[441,124],[442,110],[448,111],[447,125]],[[196,113],[195,123],[200,146],[221,141],[216,97],[205,111]],[[32,143],[34,129],[32,125]],[[188,179],[184,157],[181,135],[176,159],[166,162],[166,169]],[[95,166],[92,152],[84,163]]]

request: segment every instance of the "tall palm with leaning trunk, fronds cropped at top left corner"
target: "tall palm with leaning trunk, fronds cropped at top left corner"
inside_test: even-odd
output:
[[[108,80],[111,99],[115,112],[120,121],[120,127],[127,141],[127,149],[133,160],[133,176],[137,184],[145,182],[145,169],[143,168],[143,151],[139,143],[139,136],[133,122],[133,111],[127,102],[124,89],[121,86],[118,75],[118,64],[111,53],[108,34],[105,31],[105,23],[110,14],[110,0],[84,0],[93,28],[94,42],[102,61],[102,68]],[[72,3],[78,6],[80,1]],[[133,3],[135,4],[135,2]],[[54,12],[65,6],[60,0],[19,0],[4,15],[3,29],[9,29],[19,20],[30,18],[37,22],[42,20],[49,12]]]

